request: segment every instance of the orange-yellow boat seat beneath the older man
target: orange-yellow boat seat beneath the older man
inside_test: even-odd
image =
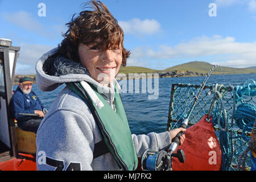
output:
[[[30,131],[24,131],[15,127],[18,151],[27,154],[36,154],[36,134]]]

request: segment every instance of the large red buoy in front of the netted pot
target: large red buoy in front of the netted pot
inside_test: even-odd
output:
[[[185,131],[184,143],[177,147],[185,153],[185,163],[172,158],[174,171],[219,171],[221,168],[221,147],[212,124],[212,117],[207,122],[208,115],[201,121],[188,127]]]

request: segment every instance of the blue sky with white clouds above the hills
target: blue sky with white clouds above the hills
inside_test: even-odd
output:
[[[0,38],[20,47],[15,74],[63,40],[73,0],[0,0]],[[166,69],[190,61],[226,67],[256,65],[256,0],[102,0],[125,32],[128,66]]]

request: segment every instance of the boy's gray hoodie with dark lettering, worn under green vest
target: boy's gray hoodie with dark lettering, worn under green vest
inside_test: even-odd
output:
[[[36,84],[49,92],[65,82],[85,81],[104,90],[102,96],[114,109],[114,86],[100,85],[90,77],[86,68],[56,55],[57,48],[45,53],[36,64]],[[46,64],[44,64],[46,63]],[[97,102],[97,99],[96,99]],[[140,157],[144,150],[161,150],[170,145],[168,131],[160,134],[132,134],[135,150]],[[110,152],[93,159],[94,144],[101,134],[85,102],[67,86],[59,93],[39,126],[36,136],[38,170],[120,170]]]

